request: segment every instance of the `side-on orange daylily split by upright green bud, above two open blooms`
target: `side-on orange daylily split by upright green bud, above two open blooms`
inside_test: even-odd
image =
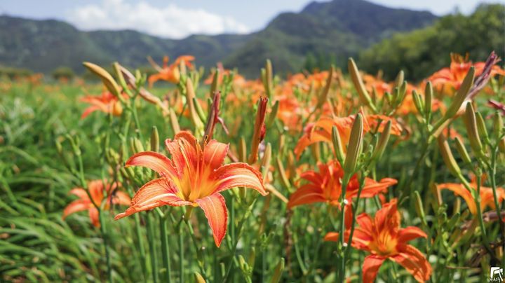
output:
[[[295,146],[295,155],[299,158],[304,149],[311,144],[315,144],[319,141],[332,143],[332,127],[335,125],[340,134],[340,139],[342,139],[342,144],[349,143],[349,137],[351,136],[351,128],[354,123],[354,118],[356,115],[351,115],[347,117],[322,117],[316,123],[311,123],[305,127],[303,136],[299,139],[297,145]],[[384,130],[386,122],[391,120],[391,134],[400,135],[402,131],[401,125],[396,121],[396,119],[383,116],[383,115],[367,115],[363,116],[363,132],[369,132],[372,129],[379,126],[379,132]],[[381,124],[379,125],[379,121]],[[344,149],[345,151],[345,149]]]

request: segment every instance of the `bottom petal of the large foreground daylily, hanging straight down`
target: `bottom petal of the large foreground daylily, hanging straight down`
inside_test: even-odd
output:
[[[228,223],[228,212],[223,196],[215,193],[205,198],[198,198],[195,202],[205,212],[210,229],[213,230],[214,242],[217,247],[220,247]]]

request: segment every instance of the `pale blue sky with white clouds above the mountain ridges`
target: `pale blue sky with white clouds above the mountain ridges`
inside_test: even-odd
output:
[[[481,2],[505,0],[369,0],[393,8],[436,15],[458,8],[471,13]],[[300,11],[310,0],[0,0],[0,14],[55,18],[79,29],[138,29],[180,39],[189,34],[247,33],[262,29],[278,13]]]

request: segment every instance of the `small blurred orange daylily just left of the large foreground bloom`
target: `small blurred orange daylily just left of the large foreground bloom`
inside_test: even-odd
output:
[[[91,195],[91,199],[88,197],[88,193],[83,188],[73,188],[70,193],[72,195],[76,195],[79,197],[79,200],[74,200],[70,202],[65,210],[63,210],[62,219],[67,218],[69,214],[74,212],[82,212],[84,210],[88,210],[91,223],[93,226],[100,227],[100,220],[98,219],[98,209],[93,205],[95,202],[96,205],[102,205],[102,201],[104,200],[104,191],[107,192],[107,200],[103,206],[103,209],[109,209],[111,203],[113,205],[130,205],[130,196],[127,193],[122,191],[117,191],[116,188],[119,186],[118,183],[114,183],[112,185],[107,184],[104,187],[104,184],[107,184],[107,180],[93,180],[88,182],[88,190]],[[113,193],[114,192],[114,193]],[[113,195],[111,195],[113,193]]]

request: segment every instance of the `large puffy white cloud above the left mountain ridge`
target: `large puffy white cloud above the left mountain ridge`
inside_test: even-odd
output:
[[[148,34],[182,39],[190,34],[249,32],[234,18],[202,9],[180,8],[175,4],[155,7],[146,1],[135,4],[123,0],[103,0],[101,4],[80,6],[69,11],[67,20],[79,29],[135,29]]]

